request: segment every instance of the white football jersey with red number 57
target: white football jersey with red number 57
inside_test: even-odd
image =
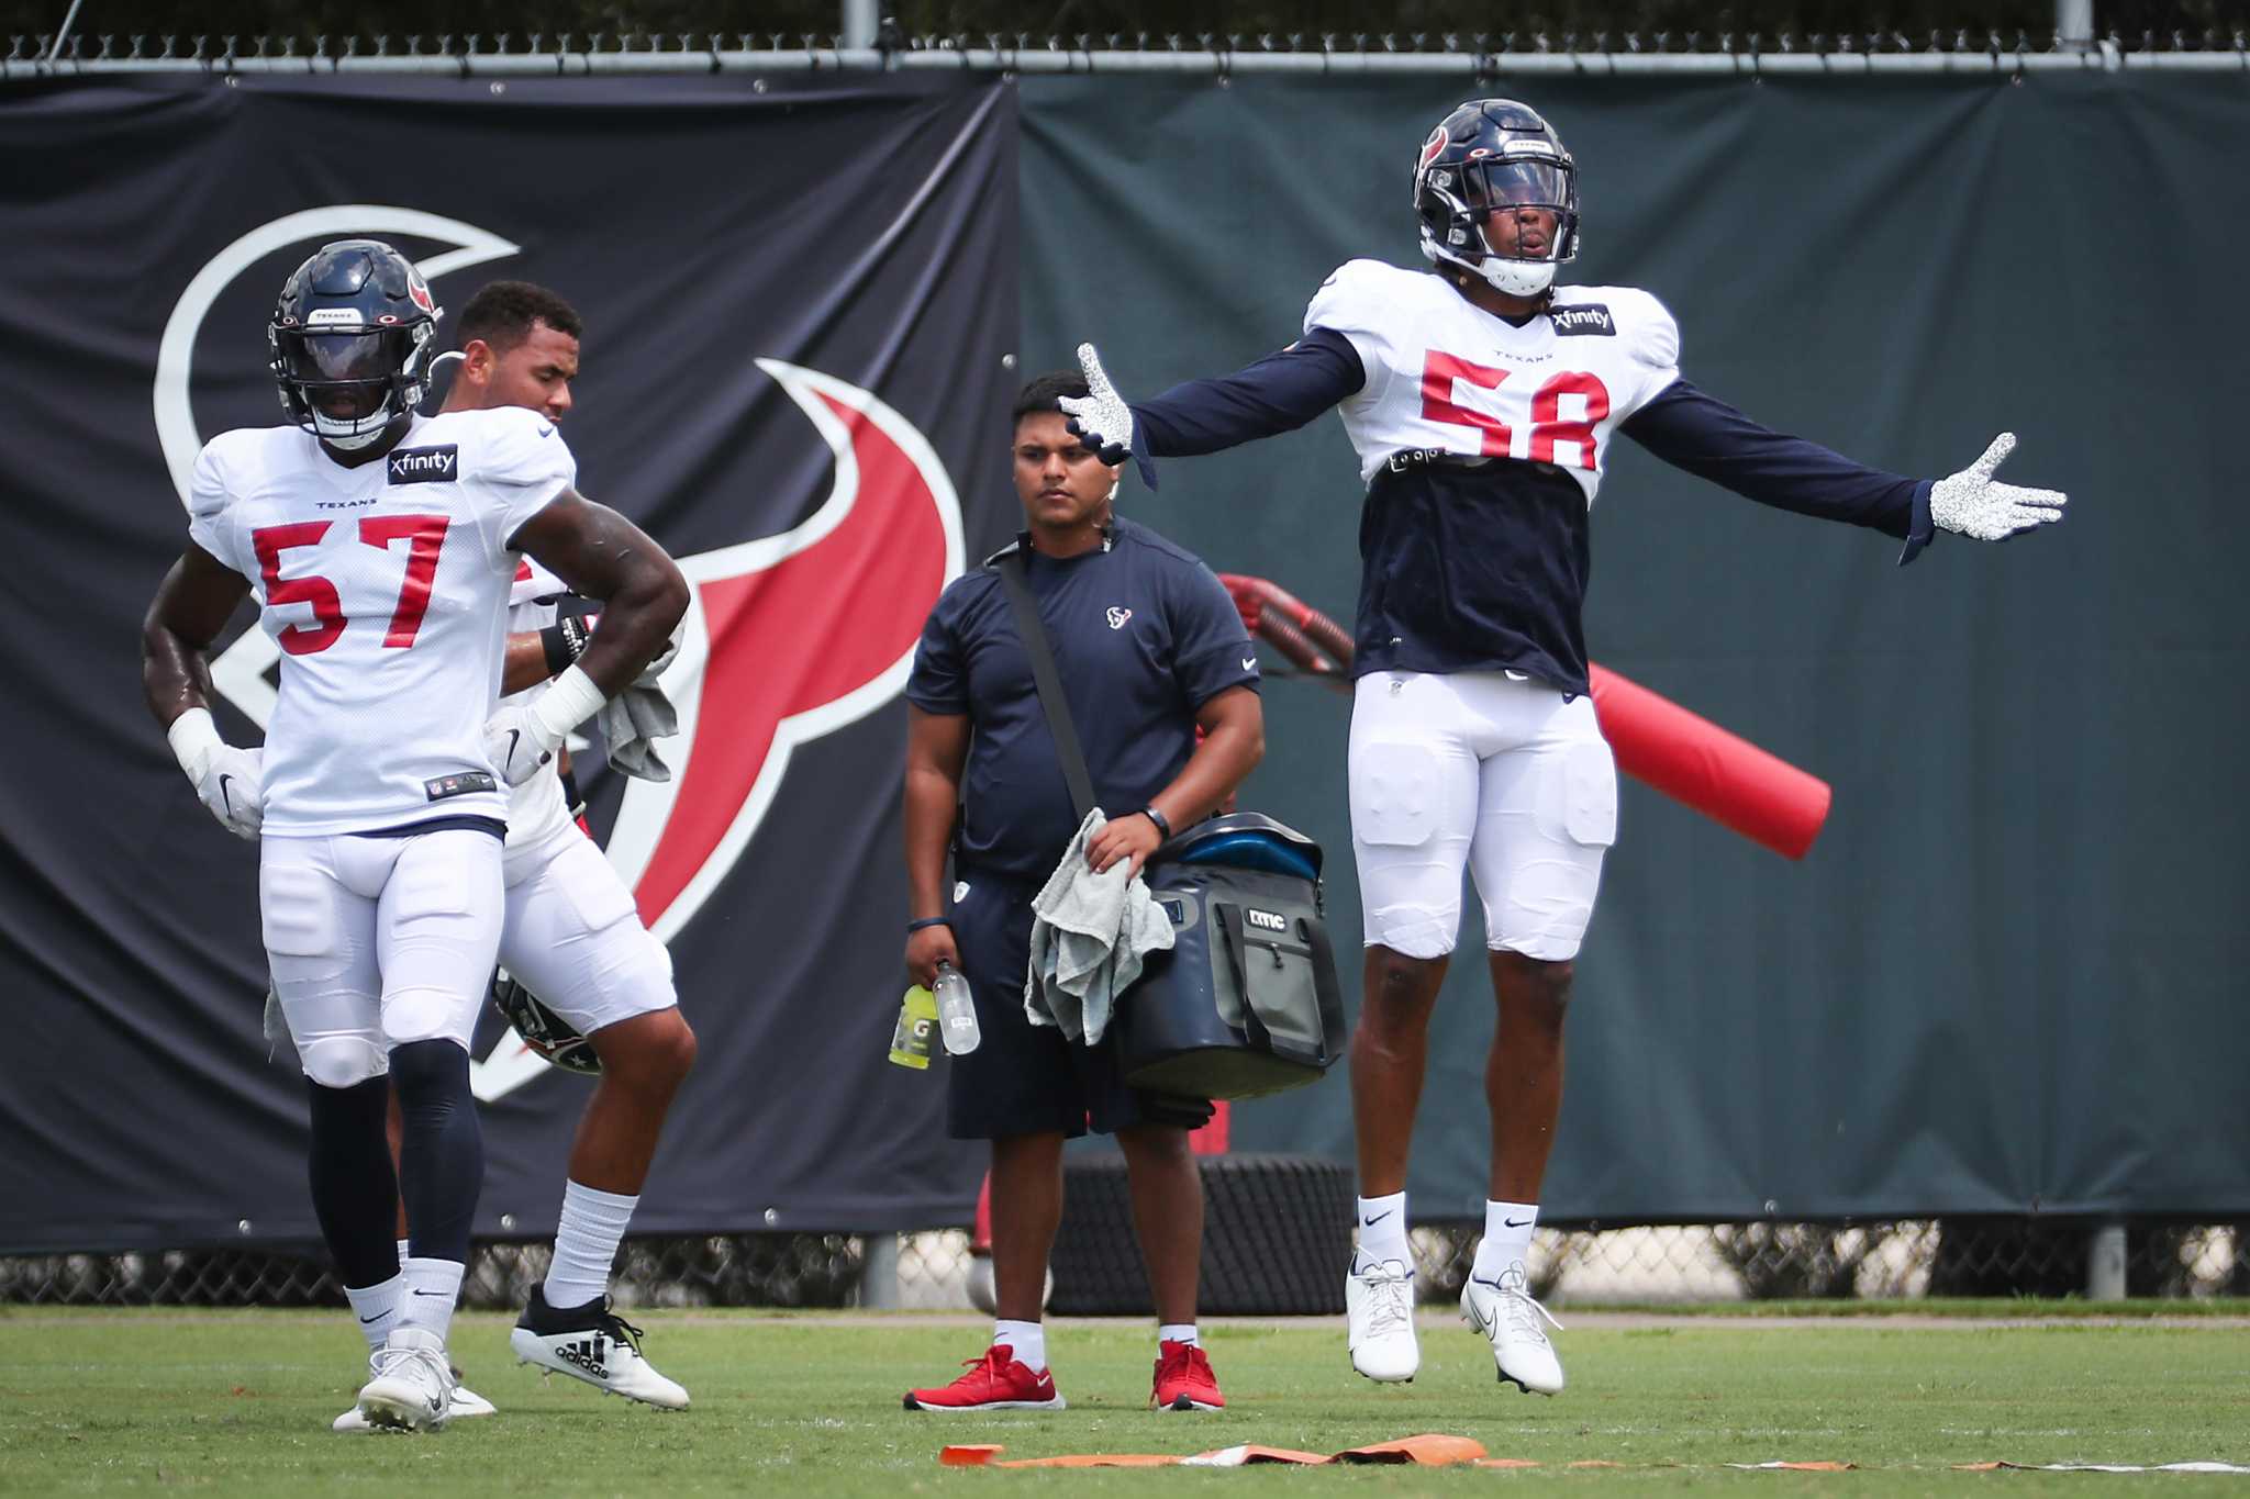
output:
[[[416,418],[360,467],[299,427],[205,445],[189,537],[250,580],[281,647],[266,832],[506,816],[484,721],[520,562],[508,537],[574,479],[554,423],[513,407]]]

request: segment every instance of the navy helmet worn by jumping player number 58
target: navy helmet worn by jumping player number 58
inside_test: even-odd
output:
[[[1494,209],[1550,211],[1546,254],[1496,252],[1485,238]],[[1537,297],[1577,256],[1577,166],[1555,126],[1514,99],[1469,99],[1429,133],[1413,169],[1413,211],[1429,261],[1460,265],[1510,297]]]

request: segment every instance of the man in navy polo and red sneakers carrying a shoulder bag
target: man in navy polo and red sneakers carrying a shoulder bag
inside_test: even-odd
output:
[[[1042,375],[1015,402],[1015,492],[1028,521],[1015,548],[1026,553],[1094,800],[1109,814],[1087,861],[1107,870],[1123,858],[1138,872],[1170,829],[1233,796],[1264,753],[1264,715],[1258,656],[1220,580],[1112,512],[1118,470],[1069,434],[1058,405],[1084,393],[1073,373]],[[992,1142],[999,1315],[986,1355],[952,1384],[909,1393],[907,1409],[1062,1409],[1040,1301],[1062,1220],[1062,1142],[1087,1128],[1125,1151],[1161,1324],[1152,1402],[1217,1409],[1226,1400],[1195,1333],[1204,1191],[1188,1128],[1202,1117],[1127,1088],[1114,1036],[1087,1047],[1024,1016],[1030,899],[1078,816],[992,569],[1008,551],[945,589],[907,681],[907,969],[929,984],[950,962],[976,998],[983,1045],[952,1059],[947,1128]]]

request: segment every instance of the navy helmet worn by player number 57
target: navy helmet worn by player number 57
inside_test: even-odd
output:
[[[322,245],[266,326],[281,409],[331,447],[367,447],[430,389],[439,317],[430,283],[382,240]]]

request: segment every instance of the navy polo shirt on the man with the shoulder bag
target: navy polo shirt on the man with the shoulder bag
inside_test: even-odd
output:
[[[1226,688],[1258,688],[1258,652],[1240,611],[1192,553],[1127,519],[1078,557],[1033,551],[1026,582],[1071,699],[1094,800],[1109,816],[1148,807],[1195,753],[1195,712]],[[938,596],[907,701],[972,721],[958,863],[1046,881],[1078,816],[990,560]]]

